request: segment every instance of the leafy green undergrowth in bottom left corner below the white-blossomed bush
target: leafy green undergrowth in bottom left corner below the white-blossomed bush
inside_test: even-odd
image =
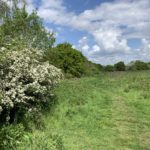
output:
[[[0,130],[0,149],[16,150],[23,140],[24,127],[21,124],[3,126]]]

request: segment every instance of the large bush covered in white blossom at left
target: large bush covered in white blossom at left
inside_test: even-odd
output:
[[[48,62],[40,62],[38,50],[6,51],[1,51],[0,121],[12,123],[18,113],[35,111],[51,100],[52,89],[63,75]]]

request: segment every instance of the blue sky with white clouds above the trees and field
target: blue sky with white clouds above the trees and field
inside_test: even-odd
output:
[[[27,0],[57,43],[101,64],[150,61],[150,0]]]

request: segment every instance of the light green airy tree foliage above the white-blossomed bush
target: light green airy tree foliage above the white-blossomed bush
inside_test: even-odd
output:
[[[3,18],[0,26],[0,47],[11,49],[14,41],[20,41],[26,48],[47,50],[52,47],[55,38],[46,31],[36,12],[28,14],[26,8],[16,8]]]

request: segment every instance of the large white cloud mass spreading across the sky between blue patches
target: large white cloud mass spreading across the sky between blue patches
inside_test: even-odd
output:
[[[92,35],[95,45],[90,47],[87,37],[83,37],[77,47],[95,62],[150,59],[149,42],[143,40],[140,50],[134,51],[127,44],[132,38],[150,39],[150,0],[104,2],[79,15],[69,12],[63,0],[42,0],[38,14],[48,23],[69,26]]]

